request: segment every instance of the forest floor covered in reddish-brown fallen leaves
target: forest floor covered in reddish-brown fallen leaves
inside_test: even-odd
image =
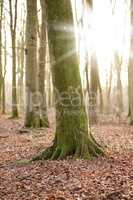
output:
[[[20,131],[22,124],[0,118],[0,200],[133,200],[133,127],[92,127],[105,157],[17,164],[53,139],[53,128]]]

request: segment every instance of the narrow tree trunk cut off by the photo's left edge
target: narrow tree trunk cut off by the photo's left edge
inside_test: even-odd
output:
[[[3,0],[0,1],[0,109],[1,109],[1,94],[2,94],[2,13],[3,13]]]

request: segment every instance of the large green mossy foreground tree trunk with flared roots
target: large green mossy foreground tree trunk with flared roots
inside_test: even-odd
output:
[[[56,88],[56,132],[53,145],[32,160],[64,159],[70,155],[91,159],[103,154],[103,151],[90,130],[88,132],[71,3],[69,0],[46,0],[46,6],[49,45],[54,57],[52,76]]]

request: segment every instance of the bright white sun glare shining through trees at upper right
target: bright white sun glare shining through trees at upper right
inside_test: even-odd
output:
[[[83,8],[82,0],[72,0],[72,4],[78,21],[82,17],[84,21],[83,28],[78,29],[81,66],[84,66],[85,47],[90,56],[92,51],[96,52],[102,76],[113,63],[115,51],[123,57],[125,66],[129,55],[130,2],[114,1],[111,5],[110,0],[93,0],[93,12],[89,7]]]

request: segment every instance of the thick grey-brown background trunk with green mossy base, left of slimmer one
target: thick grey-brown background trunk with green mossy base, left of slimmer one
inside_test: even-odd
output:
[[[26,127],[39,127],[37,95],[37,0],[27,0]]]

